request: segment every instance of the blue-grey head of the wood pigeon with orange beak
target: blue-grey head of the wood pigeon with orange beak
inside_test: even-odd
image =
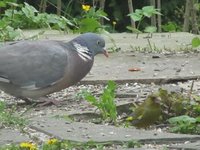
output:
[[[95,56],[96,54],[104,54],[108,57],[108,52],[104,49],[105,40],[95,33],[84,33],[75,39],[76,43],[79,44],[81,51],[87,50],[88,54]],[[82,49],[80,48],[82,47]],[[85,51],[85,53],[87,53]]]

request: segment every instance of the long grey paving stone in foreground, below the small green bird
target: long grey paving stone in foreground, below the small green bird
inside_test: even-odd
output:
[[[199,135],[184,135],[145,131],[135,128],[96,125],[92,123],[68,122],[55,117],[36,117],[31,128],[59,139],[78,142],[126,142],[139,140],[143,143],[169,143],[200,140]]]

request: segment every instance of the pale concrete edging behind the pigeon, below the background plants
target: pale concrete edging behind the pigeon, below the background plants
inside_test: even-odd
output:
[[[44,34],[38,36],[39,39],[48,40],[62,40],[69,41],[72,38],[78,36],[78,34],[66,34],[57,30],[24,30],[23,35],[25,37],[31,37],[37,35],[41,31]],[[117,46],[121,48],[121,51],[135,51],[149,49],[149,42],[155,51],[157,50],[187,50],[191,48],[191,40],[195,36],[187,32],[175,32],[175,33],[153,33],[153,36],[147,40],[148,34],[142,33],[112,33],[112,34],[102,34],[106,40],[106,47],[108,49]]]

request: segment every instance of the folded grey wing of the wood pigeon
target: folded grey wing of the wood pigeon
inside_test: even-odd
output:
[[[62,79],[68,57],[62,42],[24,41],[0,48],[0,82],[40,89]]]

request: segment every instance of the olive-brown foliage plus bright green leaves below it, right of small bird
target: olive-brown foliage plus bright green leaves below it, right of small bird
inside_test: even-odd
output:
[[[198,96],[184,96],[181,93],[159,89],[162,117],[170,123],[170,131],[179,133],[200,133],[200,99]]]

